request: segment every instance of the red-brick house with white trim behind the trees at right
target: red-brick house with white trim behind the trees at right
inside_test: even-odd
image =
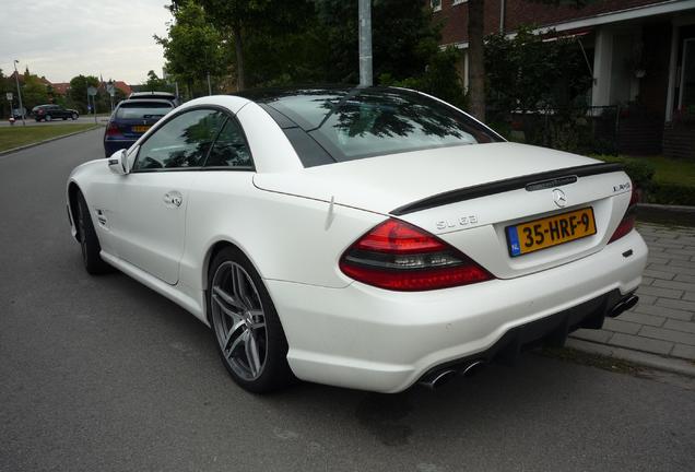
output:
[[[460,70],[466,86],[467,3],[428,1],[435,20],[443,22],[441,45],[463,50]],[[646,110],[621,129],[622,149],[650,154],[663,145],[668,155],[695,153],[695,126],[679,125],[684,110],[695,109],[695,0],[597,0],[581,9],[485,0],[485,34],[513,35],[525,24],[576,37],[593,76],[591,106],[638,102]]]

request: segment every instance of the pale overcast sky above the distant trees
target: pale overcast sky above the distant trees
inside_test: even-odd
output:
[[[167,0],[0,0],[0,69],[69,82],[103,75],[139,84],[148,71],[162,76]]]

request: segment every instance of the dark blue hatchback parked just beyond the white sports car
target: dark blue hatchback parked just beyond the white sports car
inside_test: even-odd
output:
[[[119,103],[104,133],[106,157],[118,150],[130,148],[172,109],[174,104],[166,99],[126,99]]]

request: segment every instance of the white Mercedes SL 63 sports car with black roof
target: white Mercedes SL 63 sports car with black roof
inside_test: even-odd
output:
[[[256,392],[434,387],[562,344],[637,302],[647,258],[619,166],[402,88],[198,98],[67,197],[87,272],[189,310]]]

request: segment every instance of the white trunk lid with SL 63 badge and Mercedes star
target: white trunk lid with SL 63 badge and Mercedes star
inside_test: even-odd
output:
[[[258,174],[254,181],[264,190],[397,216],[438,235],[496,276],[513,278],[606,244],[629,200],[629,179],[616,170],[588,157],[505,142],[364,158],[292,176]],[[556,202],[556,189],[565,201]],[[622,193],[627,197],[612,198]],[[511,255],[508,226],[587,208],[596,234]]]

